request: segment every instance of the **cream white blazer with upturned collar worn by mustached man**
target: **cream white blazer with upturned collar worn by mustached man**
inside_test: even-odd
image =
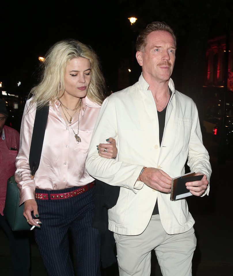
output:
[[[136,183],[143,166],[162,169],[174,178],[185,173],[188,159],[191,171],[207,175],[208,181],[211,175],[194,101],[176,91],[170,79],[172,96],[160,146],[156,104],[148,87],[141,75],[137,83],[105,99],[86,160],[90,175],[121,187],[118,202],[108,215],[109,230],[122,235],[139,235],[145,230],[156,200],[166,233],[182,233],[194,225],[185,199],[170,201],[170,193],[155,191],[140,181]],[[106,143],[109,137],[116,139],[116,160],[102,158],[96,150],[96,145]]]

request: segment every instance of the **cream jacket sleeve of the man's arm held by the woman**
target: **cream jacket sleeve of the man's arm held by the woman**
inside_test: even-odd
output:
[[[86,168],[92,177],[113,186],[126,187],[136,193],[134,185],[143,165],[118,161],[118,157],[116,159],[107,159],[99,156],[96,145],[106,143],[106,137],[113,137],[116,140],[119,153],[116,112],[114,105],[109,102],[108,98],[103,102],[95,124],[86,160]],[[143,183],[141,183],[142,186]]]

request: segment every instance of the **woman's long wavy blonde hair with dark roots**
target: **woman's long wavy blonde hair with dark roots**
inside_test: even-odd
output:
[[[105,79],[100,69],[96,53],[90,46],[77,40],[67,39],[55,43],[46,53],[41,64],[41,81],[33,87],[29,97],[32,97],[30,107],[42,108],[49,101],[56,101],[65,91],[65,70],[73,58],[84,57],[91,64],[91,82],[87,97],[97,104],[105,99]]]

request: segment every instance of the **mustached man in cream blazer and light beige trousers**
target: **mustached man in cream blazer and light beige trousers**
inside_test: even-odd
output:
[[[155,250],[163,275],[192,275],[196,247],[194,219],[185,198],[171,201],[172,178],[191,171],[204,175],[187,182],[187,192],[209,192],[211,166],[202,143],[193,100],[175,90],[171,74],[176,38],[164,22],[152,22],[136,43],[142,67],[139,81],[105,99],[96,122],[86,167],[93,177],[120,186],[117,204],[109,209],[121,276],[150,275]],[[96,152],[104,137],[116,139],[118,156]],[[104,156],[107,150],[98,145]]]

